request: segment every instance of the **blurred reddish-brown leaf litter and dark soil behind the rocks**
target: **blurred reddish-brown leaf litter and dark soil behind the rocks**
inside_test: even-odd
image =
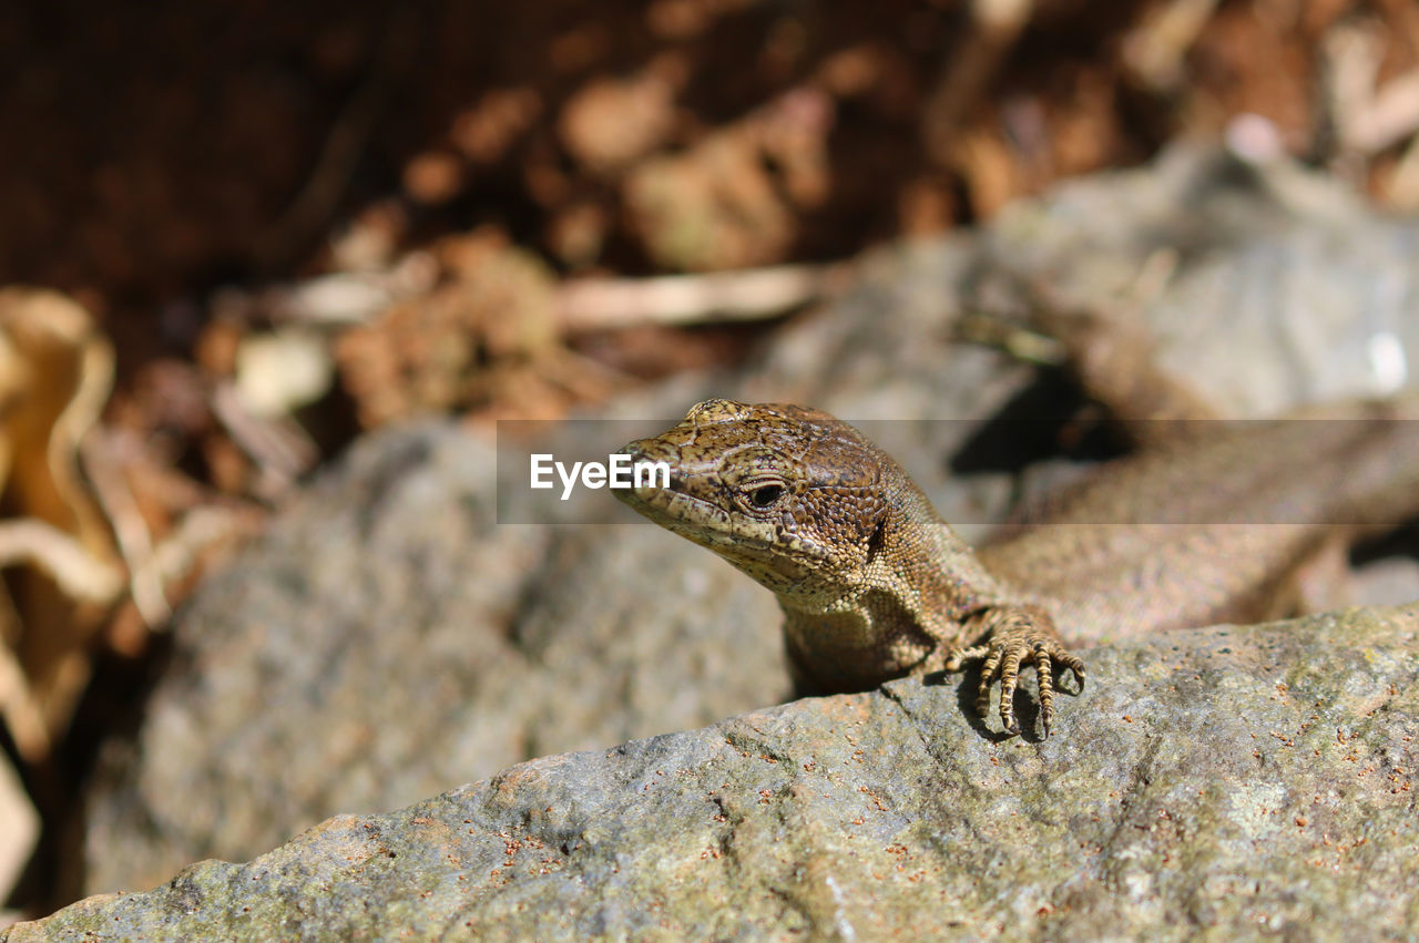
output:
[[[16,913],[175,607],[362,433],[731,369],[864,250],[1179,139],[1419,208],[1412,0],[61,0],[0,61]]]

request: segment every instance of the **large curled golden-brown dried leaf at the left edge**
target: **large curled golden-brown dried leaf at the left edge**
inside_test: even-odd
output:
[[[0,688],[0,708],[31,760],[68,725],[88,681],[89,638],[123,587],[108,522],[77,465],[112,370],[112,347],[72,301],[0,291],[0,566],[17,566],[3,608],[23,676]]]

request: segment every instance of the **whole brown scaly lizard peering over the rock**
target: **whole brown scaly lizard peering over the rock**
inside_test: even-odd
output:
[[[1056,672],[1084,681],[1063,635],[1286,614],[1276,600],[1307,562],[1419,512],[1419,421],[1395,421],[1419,418],[1416,406],[1200,424],[979,553],[887,454],[799,406],[700,403],[622,450],[668,462],[670,486],[616,493],[773,590],[800,691],[983,661],[976,710],[999,681],[1000,720],[1017,733],[1013,695],[1033,665],[1049,736]]]

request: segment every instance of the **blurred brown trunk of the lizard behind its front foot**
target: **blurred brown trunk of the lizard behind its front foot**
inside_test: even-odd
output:
[[[1307,567],[1419,513],[1416,396],[1172,433],[981,549],[1067,638],[1293,614]]]

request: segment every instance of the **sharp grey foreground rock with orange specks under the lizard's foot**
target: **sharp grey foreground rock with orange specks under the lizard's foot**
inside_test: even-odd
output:
[[[0,939],[1413,936],[1416,651],[1419,606],[1100,647],[1046,742],[989,735],[969,681],[894,681],[339,815]]]

